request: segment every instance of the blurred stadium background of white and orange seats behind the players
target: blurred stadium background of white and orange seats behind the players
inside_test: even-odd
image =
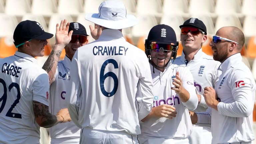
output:
[[[55,34],[56,23],[62,19],[79,22],[86,27],[93,23],[84,19],[86,13],[98,13],[98,6],[103,0],[0,0],[0,58],[13,55],[13,31],[23,20],[39,22],[45,31]],[[157,24],[171,26],[180,40],[179,25],[190,17],[199,18],[207,27],[208,40],[202,50],[212,55],[209,46],[216,30],[223,26],[236,26],[245,34],[242,49],[244,63],[251,69],[256,80],[256,0],[121,0],[127,13],[134,14],[139,24],[123,29],[124,37],[131,44],[144,50],[144,41],[149,30]],[[89,42],[94,41],[89,37]],[[42,66],[55,44],[55,37],[48,40],[45,56],[37,57]],[[180,43],[178,55],[182,53]],[[65,50],[61,59],[65,56]],[[254,107],[254,129],[256,134],[256,108]],[[43,130],[45,131],[45,130]],[[42,132],[45,133],[45,132]],[[47,133],[46,133],[47,135]],[[41,141],[42,144],[48,143]],[[255,142],[256,144],[256,142]]]

